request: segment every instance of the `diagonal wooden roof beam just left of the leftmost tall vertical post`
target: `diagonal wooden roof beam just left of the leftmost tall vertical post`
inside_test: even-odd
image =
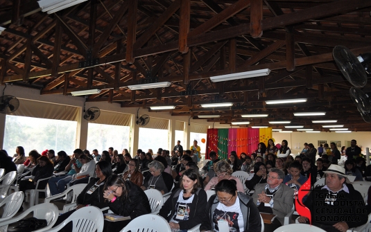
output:
[[[99,37],[98,42],[94,44],[92,57],[96,57],[98,55],[99,50],[101,49],[103,44],[106,42],[108,37],[110,37],[112,30],[114,30],[116,25],[119,23],[119,21],[125,14],[126,10],[128,10],[128,5],[129,5],[129,1],[124,1],[122,5],[120,6],[119,10],[117,10],[116,15],[114,15],[114,18],[110,21],[110,24],[105,26],[105,30],[103,31],[101,37]]]

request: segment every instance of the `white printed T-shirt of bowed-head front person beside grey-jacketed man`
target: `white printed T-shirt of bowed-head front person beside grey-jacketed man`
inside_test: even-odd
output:
[[[219,231],[218,220],[227,221],[230,227],[236,229],[236,232],[242,232],[244,230],[245,224],[243,222],[239,197],[236,197],[236,203],[233,206],[225,206],[221,202],[218,203],[213,215],[214,231]]]

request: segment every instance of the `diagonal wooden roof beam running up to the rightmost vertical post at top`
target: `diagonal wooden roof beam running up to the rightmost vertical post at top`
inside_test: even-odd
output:
[[[205,23],[201,24],[197,28],[194,28],[188,33],[188,36],[194,35],[201,35],[206,33],[208,30],[212,30],[212,28],[218,26],[219,24],[223,23],[226,19],[236,15],[236,13],[240,12],[241,10],[247,8],[250,5],[250,0],[239,0],[236,3],[232,4],[228,8],[225,8],[222,12],[214,15],[212,19],[205,21]]]

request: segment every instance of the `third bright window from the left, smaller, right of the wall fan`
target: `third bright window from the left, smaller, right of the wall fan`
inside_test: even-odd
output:
[[[156,153],[159,148],[169,150],[169,130],[139,127],[138,148],[144,152],[152,149],[153,153]]]

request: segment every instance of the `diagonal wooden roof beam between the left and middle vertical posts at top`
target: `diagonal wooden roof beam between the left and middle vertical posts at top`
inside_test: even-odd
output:
[[[148,40],[150,37],[152,37],[155,32],[164,25],[164,23],[170,19],[170,17],[180,8],[180,0],[175,0],[173,3],[171,3],[171,6],[167,8],[162,15],[160,15],[155,22],[153,22],[152,26],[146,30],[145,33],[141,35],[137,39],[137,41],[134,44],[134,49],[141,48]],[[178,44],[178,43],[177,43]],[[178,47],[177,47],[178,48]]]

